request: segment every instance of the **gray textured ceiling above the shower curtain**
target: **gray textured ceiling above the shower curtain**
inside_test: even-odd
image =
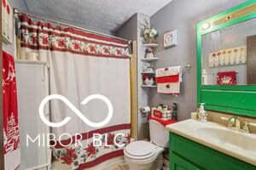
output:
[[[77,26],[111,32],[133,14],[149,16],[172,0],[13,0],[21,8],[54,20],[76,23]],[[20,2],[19,2],[20,1]],[[23,2],[22,2],[23,1]],[[20,4],[18,4],[20,6]]]

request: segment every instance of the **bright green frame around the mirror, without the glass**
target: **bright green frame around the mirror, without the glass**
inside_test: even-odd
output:
[[[256,117],[256,85],[218,86],[201,84],[202,36],[255,18],[256,0],[249,0],[197,24],[198,105],[206,103],[207,110]]]

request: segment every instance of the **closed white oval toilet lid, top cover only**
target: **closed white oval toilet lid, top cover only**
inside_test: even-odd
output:
[[[125,151],[130,156],[146,158],[154,155],[155,147],[154,144],[151,144],[150,142],[136,141],[128,144],[125,147]]]

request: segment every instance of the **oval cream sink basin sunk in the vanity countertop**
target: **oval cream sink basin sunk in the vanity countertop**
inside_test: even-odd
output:
[[[239,133],[228,128],[201,127],[197,129],[198,136],[209,139],[214,144],[223,145],[230,150],[246,151],[256,156],[256,135]]]

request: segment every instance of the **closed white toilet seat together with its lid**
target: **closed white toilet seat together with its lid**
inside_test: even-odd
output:
[[[135,160],[148,160],[158,155],[159,147],[147,141],[135,141],[125,147],[125,156]]]

